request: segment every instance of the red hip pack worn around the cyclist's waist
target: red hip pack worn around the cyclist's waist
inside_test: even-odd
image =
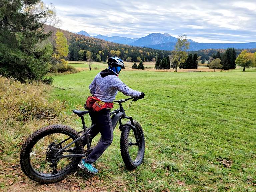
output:
[[[98,99],[97,97],[89,96],[84,105],[85,109],[89,109],[92,111],[100,111],[102,109],[112,109],[114,107],[113,103],[106,103]]]

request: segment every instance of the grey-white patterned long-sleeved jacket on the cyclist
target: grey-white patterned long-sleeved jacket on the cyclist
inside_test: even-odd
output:
[[[92,95],[104,102],[113,102],[118,91],[131,97],[139,97],[141,92],[135,91],[125,85],[117,73],[111,69],[105,69],[98,73],[89,86]]]

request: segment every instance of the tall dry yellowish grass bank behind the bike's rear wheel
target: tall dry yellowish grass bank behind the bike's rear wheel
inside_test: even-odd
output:
[[[19,160],[21,144],[35,130],[61,121],[65,103],[49,102],[52,87],[34,82],[22,84],[0,76],[0,159]]]

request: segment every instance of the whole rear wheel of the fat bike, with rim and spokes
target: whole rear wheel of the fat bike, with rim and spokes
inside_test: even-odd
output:
[[[74,129],[65,125],[51,125],[34,132],[20,152],[22,171],[30,179],[40,183],[62,180],[77,168],[81,157],[56,158],[55,155],[78,137],[79,134]],[[76,149],[74,153],[82,153],[82,141],[73,143],[59,155],[70,154],[70,148]]]

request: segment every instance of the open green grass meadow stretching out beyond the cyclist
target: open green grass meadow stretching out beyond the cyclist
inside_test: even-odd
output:
[[[55,76],[54,86],[64,90],[55,89],[52,98],[68,101],[70,110],[82,108],[98,72]],[[145,161],[135,172],[125,169],[116,129],[112,145],[97,162],[103,185],[120,191],[255,191],[255,77],[255,70],[123,71],[120,79],[146,94],[127,111],[144,129]],[[79,181],[82,188],[86,181]]]

